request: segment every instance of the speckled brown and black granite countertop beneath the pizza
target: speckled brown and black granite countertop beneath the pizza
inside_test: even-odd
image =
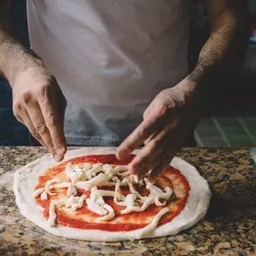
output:
[[[40,147],[0,147],[0,255],[256,255],[256,166],[248,148],[182,149],[178,156],[211,186],[207,216],[175,236],[121,243],[57,237],[19,213],[13,173],[45,153]]]

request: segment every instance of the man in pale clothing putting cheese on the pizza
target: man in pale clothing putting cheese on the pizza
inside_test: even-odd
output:
[[[185,0],[31,0],[31,48],[12,36],[1,1],[0,70],[13,112],[57,161],[67,144],[119,146],[131,174],[154,182],[243,63],[244,0],[208,0],[211,34],[188,75]],[[68,102],[66,108],[66,100]],[[64,127],[65,119],[65,127]],[[129,135],[130,134],[130,135]]]

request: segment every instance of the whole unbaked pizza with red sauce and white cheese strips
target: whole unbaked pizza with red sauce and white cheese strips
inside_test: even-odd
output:
[[[14,176],[23,216],[49,233],[87,241],[121,241],[169,234],[206,215],[210,190],[197,170],[174,158],[157,181],[130,181],[115,148],[83,148],[56,165],[49,156]]]

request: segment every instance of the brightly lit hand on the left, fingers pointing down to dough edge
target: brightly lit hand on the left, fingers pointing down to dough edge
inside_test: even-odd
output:
[[[12,87],[14,116],[61,161],[66,153],[66,99],[57,80],[40,61],[32,61],[15,76]]]

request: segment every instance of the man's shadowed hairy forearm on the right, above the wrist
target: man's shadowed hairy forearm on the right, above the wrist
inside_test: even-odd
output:
[[[239,1],[237,1],[239,3]],[[239,4],[238,4],[239,5]],[[226,8],[214,22],[212,32],[199,54],[199,62],[187,77],[191,81],[186,91],[198,94],[200,102],[230,84],[245,57],[249,26],[245,4]]]

